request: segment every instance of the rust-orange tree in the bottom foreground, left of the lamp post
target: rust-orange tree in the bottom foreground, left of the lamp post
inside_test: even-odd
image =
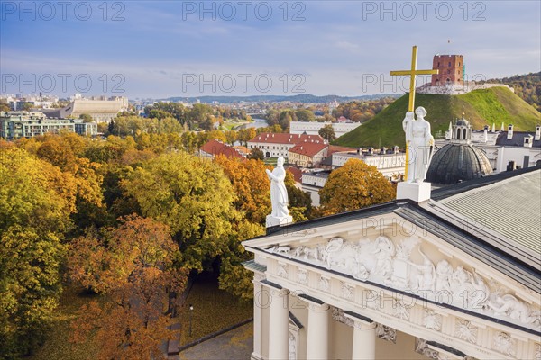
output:
[[[71,340],[84,342],[96,331],[101,359],[165,358],[160,345],[173,336],[165,315],[168,294],[184,287],[188,273],[173,266],[179,247],[169,227],[126,217],[117,229],[76,238],[69,253],[71,279],[109,299],[81,308]]]

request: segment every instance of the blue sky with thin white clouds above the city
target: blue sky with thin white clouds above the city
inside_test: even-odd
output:
[[[7,94],[400,93],[413,45],[419,68],[462,54],[469,78],[541,67],[539,1],[0,4]]]

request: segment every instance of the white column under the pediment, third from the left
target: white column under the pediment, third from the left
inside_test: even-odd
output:
[[[329,358],[329,305],[308,305],[307,359]]]

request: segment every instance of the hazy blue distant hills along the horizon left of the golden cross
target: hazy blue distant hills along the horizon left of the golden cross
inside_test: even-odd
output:
[[[199,100],[201,103],[330,103],[334,100],[337,102],[347,102],[353,100],[372,100],[380,99],[382,97],[397,97],[397,94],[376,94],[376,95],[361,95],[361,96],[338,96],[338,95],[325,95],[316,96],[312,94],[298,94],[298,95],[254,95],[254,96],[199,96],[199,97],[170,97],[170,102],[184,101],[188,103],[195,103]]]

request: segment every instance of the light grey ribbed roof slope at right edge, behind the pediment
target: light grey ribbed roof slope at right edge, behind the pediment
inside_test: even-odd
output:
[[[541,257],[541,170],[458,193],[441,203]]]

